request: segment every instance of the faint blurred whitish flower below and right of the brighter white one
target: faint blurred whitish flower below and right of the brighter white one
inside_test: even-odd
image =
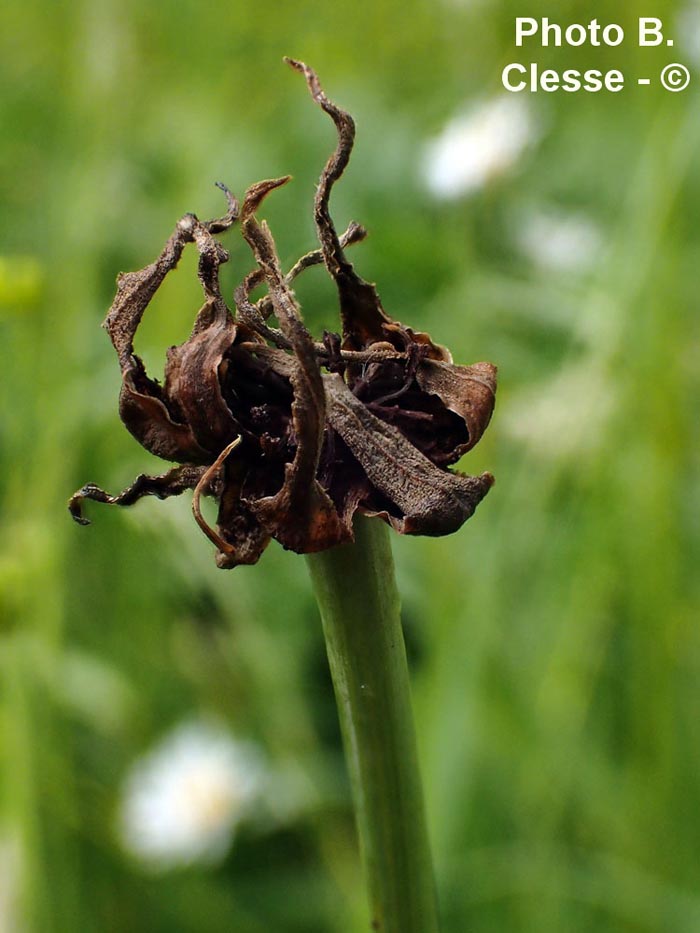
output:
[[[547,271],[582,272],[600,252],[598,226],[582,214],[539,211],[530,214],[518,231],[518,245],[535,265]]]

